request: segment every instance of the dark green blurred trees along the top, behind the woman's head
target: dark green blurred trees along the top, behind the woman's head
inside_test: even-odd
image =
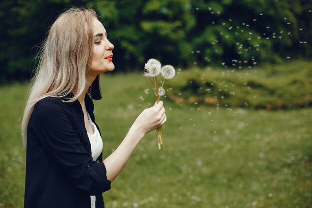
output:
[[[116,71],[142,69],[151,57],[233,68],[312,57],[308,0],[2,0],[0,84],[31,76],[48,27],[71,5],[97,10],[115,45]]]

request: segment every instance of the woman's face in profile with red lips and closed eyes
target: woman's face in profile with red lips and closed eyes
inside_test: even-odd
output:
[[[96,18],[93,20],[94,46],[90,73],[93,75],[115,69],[113,64],[114,45],[107,39],[103,24]]]

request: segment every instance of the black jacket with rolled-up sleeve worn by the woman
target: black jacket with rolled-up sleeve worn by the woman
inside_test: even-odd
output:
[[[95,123],[88,95],[85,102]],[[102,193],[110,188],[102,154],[92,161],[79,101],[38,101],[27,129],[24,208],[90,208],[90,195],[103,208]]]

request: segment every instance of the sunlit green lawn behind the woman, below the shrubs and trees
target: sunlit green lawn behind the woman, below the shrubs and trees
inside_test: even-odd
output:
[[[142,74],[107,73],[101,82],[95,114],[109,155],[155,98],[151,89],[144,93],[151,83]],[[0,208],[23,207],[19,123],[26,86],[0,87]],[[311,108],[164,103],[165,151],[158,150],[155,132],[146,135],[103,194],[107,208],[312,208]]]

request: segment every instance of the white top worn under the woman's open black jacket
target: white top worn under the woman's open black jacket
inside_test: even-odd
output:
[[[89,137],[90,144],[91,144],[92,159],[93,161],[95,161],[102,153],[103,141],[102,141],[100,132],[98,128],[96,128],[96,125],[92,122],[89,113],[88,113],[88,120],[93,130],[93,134],[88,133],[88,137]],[[95,196],[90,196],[90,199],[91,199],[91,208],[95,208]]]

